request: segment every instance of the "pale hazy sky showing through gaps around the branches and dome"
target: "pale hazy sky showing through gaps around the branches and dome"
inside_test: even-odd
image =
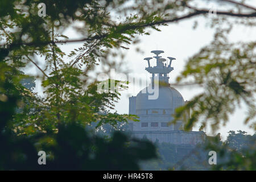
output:
[[[198,27],[193,30],[193,20],[199,22]],[[188,60],[188,57],[192,56],[194,53],[198,52],[201,47],[210,43],[213,39],[213,30],[209,27],[205,27],[205,19],[203,17],[193,18],[189,20],[183,20],[178,24],[169,24],[169,26],[160,27],[161,32],[151,31],[151,35],[141,36],[141,42],[135,45],[130,45],[128,50],[123,52],[126,53],[124,60],[115,60],[122,61],[126,67],[130,69],[132,73],[146,73],[145,68],[147,67],[147,61],[143,60],[144,57],[154,56],[150,51],[155,49],[163,50],[160,56],[166,58],[167,56],[175,57],[176,60],[172,61],[172,71],[170,76],[170,83],[174,83],[175,78],[183,71],[185,62]],[[233,28],[233,31],[230,34],[230,40],[232,42],[237,42],[239,40],[255,40],[256,39],[256,28],[247,28],[243,26],[237,26]],[[65,32],[69,38],[78,38],[78,35],[72,31],[71,28]],[[73,48],[80,47],[82,43],[70,43],[64,46],[63,48],[65,53],[68,53],[73,50]],[[139,47],[143,53],[138,53],[136,48]],[[36,68],[27,69],[26,72],[38,73]],[[148,75],[149,76],[149,75]],[[202,88],[197,86],[174,86],[183,96],[184,100],[190,100],[193,96],[196,96],[202,91]],[[40,88],[40,82],[36,82],[36,92],[42,93]],[[135,89],[135,92],[130,94],[122,94],[121,100],[116,104],[115,110],[119,114],[128,113],[129,111],[129,96],[136,96],[139,92],[139,88]],[[241,107],[237,107],[237,110],[233,115],[230,116],[228,125],[221,127],[218,132],[221,133],[223,139],[228,135],[229,130],[245,130],[250,134],[253,134],[254,131],[243,125],[243,119],[245,118],[245,109],[242,104]],[[196,126],[193,130],[198,131],[199,126]],[[207,134],[210,129],[207,129]]]

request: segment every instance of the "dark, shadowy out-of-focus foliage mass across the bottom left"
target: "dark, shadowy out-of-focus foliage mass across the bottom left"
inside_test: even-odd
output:
[[[156,157],[151,142],[128,138],[118,131],[107,140],[75,122],[61,122],[57,133],[39,133],[27,127],[28,134],[35,134],[17,136],[12,127],[6,126],[10,126],[22,96],[7,79],[1,82],[1,89],[6,90],[6,99],[2,96],[0,101],[0,143],[5,148],[0,151],[2,170],[138,170],[139,161]],[[47,165],[38,164],[40,150],[46,151]]]

